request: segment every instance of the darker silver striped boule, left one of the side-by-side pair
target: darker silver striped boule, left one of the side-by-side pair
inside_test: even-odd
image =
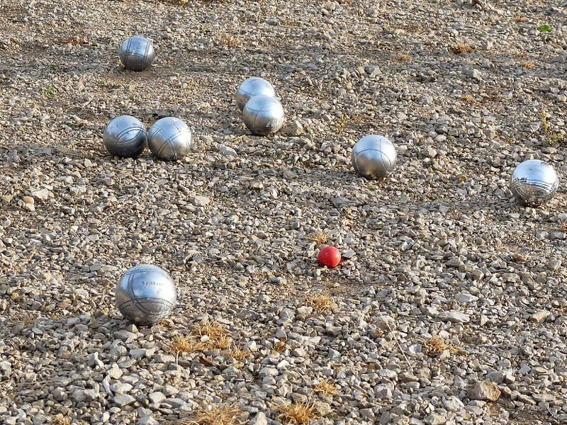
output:
[[[137,157],[146,147],[146,129],[137,118],[120,115],[106,126],[103,142],[108,153],[114,157]]]

